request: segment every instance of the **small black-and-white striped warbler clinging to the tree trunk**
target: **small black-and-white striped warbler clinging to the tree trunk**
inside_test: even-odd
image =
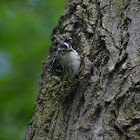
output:
[[[71,44],[63,43],[58,47],[48,66],[48,72],[63,81],[72,80],[79,70],[80,63],[80,56]]]

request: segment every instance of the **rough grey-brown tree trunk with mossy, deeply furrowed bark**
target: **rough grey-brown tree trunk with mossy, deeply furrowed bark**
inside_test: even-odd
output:
[[[140,139],[140,1],[68,1],[51,39],[25,140]],[[64,41],[86,50],[81,82],[46,73]]]

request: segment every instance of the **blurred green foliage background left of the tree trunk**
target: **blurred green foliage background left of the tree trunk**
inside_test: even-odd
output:
[[[66,0],[0,1],[0,140],[22,140]]]

